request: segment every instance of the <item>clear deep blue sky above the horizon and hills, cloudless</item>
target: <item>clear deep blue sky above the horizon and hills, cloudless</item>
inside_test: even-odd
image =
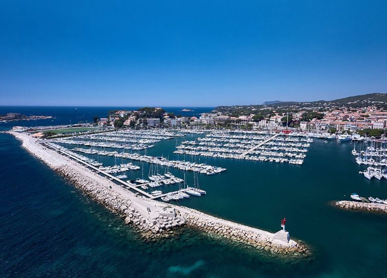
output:
[[[0,105],[387,92],[386,0],[1,0]]]

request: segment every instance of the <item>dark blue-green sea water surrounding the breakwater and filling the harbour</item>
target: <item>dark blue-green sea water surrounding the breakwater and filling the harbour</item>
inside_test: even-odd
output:
[[[0,107],[0,114],[56,116],[54,122],[2,126],[7,129],[68,124],[69,117],[71,122],[91,121],[110,109]],[[172,109],[180,108],[166,110]],[[176,140],[181,139],[159,142],[147,153],[173,158]],[[273,232],[285,216],[291,237],[304,241],[314,254],[310,261],[287,261],[187,228],[171,239],[144,242],[123,219],[82,195],[19,141],[0,134],[0,277],[387,277],[387,216],[329,205],[348,200],[352,192],[387,199],[387,180],[359,175],[364,167],[354,162],[352,148],[351,142],[315,139],[303,165],[202,158],[227,171],[200,175],[207,196],[181,205]],[[114,158],[103,162],[115,163]],[[135,178],[141,172],[129,175]]]

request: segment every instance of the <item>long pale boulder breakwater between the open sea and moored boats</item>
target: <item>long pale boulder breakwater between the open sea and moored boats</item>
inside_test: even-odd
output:
[[[138,197],[83,165],[36,143],[25,134],[7,132],[22,141],[22,146],[63,175],[96,202],[133,224],[145,237],[159,237],[182,225],[222,236],[257,249],[281,255],[309,256],[307,248],[289,238],[282,230],[270,233],[232,221],[217,218],[195,209],[165,204]],[[149,210],[148,210],[149,209]]]

